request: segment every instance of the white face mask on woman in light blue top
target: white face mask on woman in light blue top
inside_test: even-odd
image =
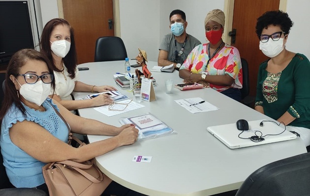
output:
[[[44,100],[51,94],[51,84],[45,84],[42,80],[34,84],[25,83],[21,85],[18,81],[17,83],[21,86],[19,90],[21,96],[38,106],[42,105]]]

